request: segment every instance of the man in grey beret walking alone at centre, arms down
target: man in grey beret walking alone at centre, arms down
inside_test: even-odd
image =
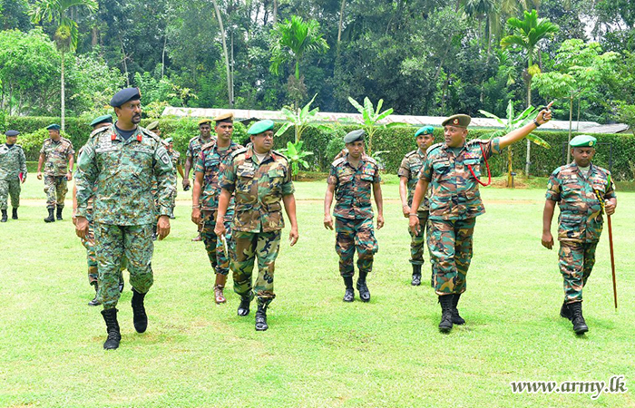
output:
[[[324,198],[324,227],[333,229],[331,203],[336,196],[333,213],[336,218],[335,249],[339,256],[339,273],[344,278],[346,291],[344,301],[355,299],[353,290],[353,257],[357,249],[357,290],[363,302],[370,301],[366,276],[373,270],[373,257],[378,246],[373,230],[373,208],[370,203],[372,189],[377,206],[377,229],[384,227],[384,209],[377,163],[364,151],[362,130],[351,131],[344,137],[347,155],[333,161],[327,179],[327,194]]]

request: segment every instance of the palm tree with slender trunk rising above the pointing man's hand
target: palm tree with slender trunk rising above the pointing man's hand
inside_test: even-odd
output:
[[[518,46],[527,53],[527,107],[532,106],[532,76],[539,73],[540,68],[533,63],[533,57],[536,53],[536,46],[550,34],[557,33],[558,25],[552,24],[545,18],[538,18],[535,10],[532,12],[524,12],[523,20],[518,18],[510,18],[507,20],[507,27],[513,34],[503,37],[501,47]],[[527,140],[527,161],[525,164],[525,174],[529,177],[529,163],[531,159],[531,141]]]

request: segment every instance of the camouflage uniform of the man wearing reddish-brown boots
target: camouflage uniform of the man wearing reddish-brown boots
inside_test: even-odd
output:
[[[201,235],[205,242],[205,249],[210,258],[211,267],[220,275],[228,275],[230,273],[230,254],[225,254],[222,240],[218,239],[214,233],[219,209],[220,171],[229,163],[231,154],[239,149],[242,149],[242,146],[232,141],[227,150],[219,151],[216,142],[210,141],[210,143],[202,146],[199,158],[195,163],[194,171],[203,173],[203,184],[200,186],[200,209],[203,213]],[[227,229],[225,239],[228,245],[231,244],[231,219],[233,217],[234,198],[232,197],[224,219],[225,228]]]

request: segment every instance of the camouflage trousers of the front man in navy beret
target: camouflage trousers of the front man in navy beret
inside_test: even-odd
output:
[[[104,309],[112,309],[119,301],[119,276],[127,262],[130,284],[137,292],[146,293],[153,283],[152,225],[108,225],[95,223],[95,254],[99,264],[99,292]]]

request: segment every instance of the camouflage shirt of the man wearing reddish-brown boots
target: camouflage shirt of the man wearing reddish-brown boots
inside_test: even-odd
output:
[[[196,172],[203,173],[203,185],[200,187],[200,209],[216,211],[219,209],[220,196],[220,172],[229,164],[231,153],[243,149],[233,141],[225,151],[219,151],[215,141],[204,145],[196,160]],[[230,206],[227,209],[234,209],[234,198],[230,199]]]

